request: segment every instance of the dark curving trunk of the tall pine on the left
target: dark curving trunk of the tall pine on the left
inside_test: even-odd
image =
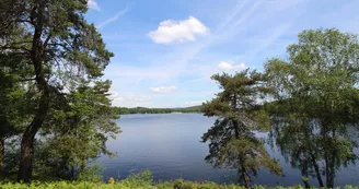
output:
[[[34,156],[34,141],[35,135],[39,128],[43,126],[45,117],[47,116],[49,106],[49,92],[48,85],[45,80],[43,71],[44,59],[44,44],[42,42],[42,35],[44,29],[44,3],[36,1],[31,14],[31,20],[34,22],[34,36],[31,50],[31,60],[35,70],[35,80],[38,93],[40,94],[38,109],[33,121],[26,127],[25,132],[21,141],[21,157],[20,168],[18,173],[18,181],[30,182],[33,172],[33,156]]]

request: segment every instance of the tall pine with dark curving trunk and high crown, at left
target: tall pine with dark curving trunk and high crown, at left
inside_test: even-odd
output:
[[[27,60],[33,67],[37,93],[36,113],[22,137],[19,180],[31,180],[34,138],[49,113],[50,94],[60,94],[70,81],[101,76],[113,57],[95,26],[83,17],[86,3],[86,0],[1,0],[0,4],[11,9],[5,11],[9,16],[1,19],[1,33],[5,35],[1,36],[0,50]],[[25,37],[14,40],[11,31],[18,26]]]

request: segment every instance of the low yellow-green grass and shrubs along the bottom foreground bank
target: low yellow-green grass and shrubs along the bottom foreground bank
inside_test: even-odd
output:
[[[95,176],[96,178],[100,178]],[[108,182],[101,180],[77,180],[77,181],[33,181],[32,184],[2,182],[1,189],[245,189],[243,186],[229,184],[219,185],[211,181],[194,182],[176,179],[173,181],[154,182],[151,172],[144,170],[139,174],[131,174],[126,179]],[[302,186],[281,187],[281,186],[253,186],[253,189],[303,189]],[[359,189],[359,187],[346,186],[345,189]],[[312,187],[315,189],[315,187]]]

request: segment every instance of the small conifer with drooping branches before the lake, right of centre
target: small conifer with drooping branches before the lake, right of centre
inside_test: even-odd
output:
[[[206,161],[215,167],[238,168],[239,181],[244,181],[247,188],[251,187],[250,172],[255,176],[260,166],[280,175],[281,168],[253,132],[270,128],[259,101],[270,92],[265,86],[265,75],[245,70],[234,75],[215,74],[211,79],[219,83],[222,92],[202,105],[205,116],[218,117],[202,135],[202,142],[210,142]]]

